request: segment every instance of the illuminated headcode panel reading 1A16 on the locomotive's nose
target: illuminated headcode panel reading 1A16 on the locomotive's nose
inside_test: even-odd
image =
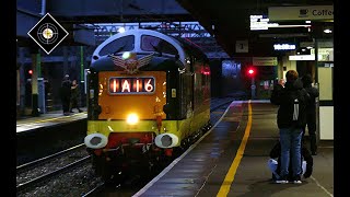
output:
[[[109,94],[153,94],[155,91],[153,77],[113,77],[108,83]]]

